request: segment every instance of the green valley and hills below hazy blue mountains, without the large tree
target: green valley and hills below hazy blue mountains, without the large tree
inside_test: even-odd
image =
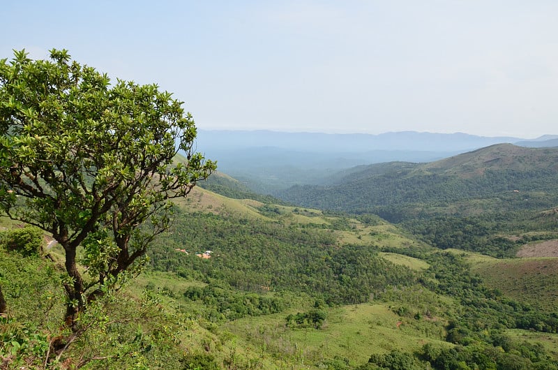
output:
[[[282,200],[218,172],[175,202],[142,274],[91,303],[59,364],[556,369],[558,154],[515,148],[355,168]],[[8,237],[25,229],[0,225],[3,361],[43,363],[61,249],[20,256]]]

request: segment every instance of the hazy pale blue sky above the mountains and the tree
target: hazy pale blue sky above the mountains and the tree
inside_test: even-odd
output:
[[[156,82],[202,129],[558,129],[558,1],[5,1],[0,57]]]

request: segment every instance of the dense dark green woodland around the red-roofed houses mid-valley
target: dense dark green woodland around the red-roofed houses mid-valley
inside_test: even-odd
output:
[[[412,270],[381,258],[373,246],[340,248],[324,225],[177,210],[169,234],[160,240],[165,248],[153,246],[149,253],[155,269],[242,290],[313,294],[328,304],[368,302],[370,293],[415,279]],[[169,246],[190,255],[168,253]],[[195,256],[206,249],[213,251],[210,261]]]

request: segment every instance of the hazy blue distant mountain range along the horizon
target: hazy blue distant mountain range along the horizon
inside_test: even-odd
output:
[[[371,135],[199,130],[197,137],[198,150],[218,161],[220,172],[260,193],[295,184],[324,184],[327,177],[358,165],[426,163],[499,143],[555,147],[558,135],[525,140],[415,131]]]

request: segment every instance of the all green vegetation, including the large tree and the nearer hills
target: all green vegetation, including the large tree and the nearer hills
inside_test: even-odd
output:
[[[194,190],[180,102],[52,58],[0,63],[1,369],[558,369],[557,150]]]

